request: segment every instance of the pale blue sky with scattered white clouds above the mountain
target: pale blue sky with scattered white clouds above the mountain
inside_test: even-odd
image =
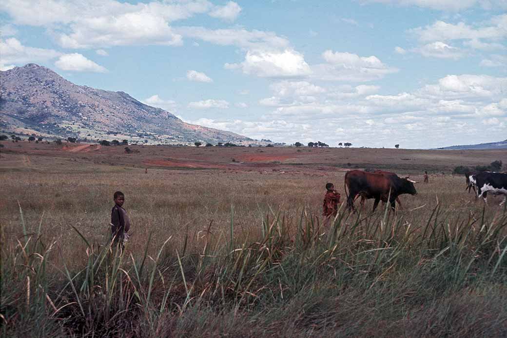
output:
[[[3,0],[0,68],[30,62],[259,140],[507,139],[507,0]]]

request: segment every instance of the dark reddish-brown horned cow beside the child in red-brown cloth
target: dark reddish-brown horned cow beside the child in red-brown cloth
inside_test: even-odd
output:
[[[379,201],[391,204],[394,210],[396,198],[401,194],[416,195],[415,181],[409,178],[400,178],[397,175],[372,174],[360,170],[353,170],[345,173],[345,193],[347,194],[347,207],[355,210],[354,198],[360,194],[366,198],[375,198],[373,210]]]

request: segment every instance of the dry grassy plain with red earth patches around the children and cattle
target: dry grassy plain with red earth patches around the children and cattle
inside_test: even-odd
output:
[[[506,151],[3,144],[3,336],[507,334],[505,207],[451,175]],[[324,227],[351,168],[430,178]]]

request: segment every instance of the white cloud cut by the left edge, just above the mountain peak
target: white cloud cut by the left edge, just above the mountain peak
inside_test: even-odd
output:
[[[22,64],[26,62],[47,61],[61,55],[52,49],[23,46],[16,38],[0,40],[0,53],[5,64]]]

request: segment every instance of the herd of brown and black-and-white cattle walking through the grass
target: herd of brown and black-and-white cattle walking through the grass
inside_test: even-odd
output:
[[[466,189],[474,189],[478,197],[483,197],[486,200],[486,195],[489,192],[493,195],[503,194],[504,198],[500,205],[503,205],[507,199],[507,173],[467,173]],[[402,194],[416,195],[417,190],[414,184],[417,183],[410,179],[410,177],[401,178],[394,173],[375,171],[373,173],[364,172],[360,170],[353,170],[345,173],[345,194],[347,195],[347,207],[349,210],[355,210],[354,201],[357,197],[361,197],[360,204],[364,205],[365,199],[375,198],[373,210],[379,204],[379,201],[389,202],[391,208],[395,209],[396,201],[398,204],[401,202],[398,198]],[[347,193],[348,189],[348,193]]]

